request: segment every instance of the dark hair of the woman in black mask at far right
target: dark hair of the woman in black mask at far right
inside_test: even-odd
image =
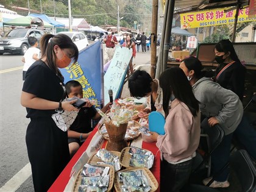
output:
[[[235,52],[235,49],[233,47],[233,44],[230,42],[230,40],[221,40],[221,41],[219,41],[215,45],[215,49],[218,52],[225,52],[225,54],[227,54],[227,52],[230,52],[231,59],[234,60],[235,62],[240,62],[240,60],[238,59],[238,56]]]

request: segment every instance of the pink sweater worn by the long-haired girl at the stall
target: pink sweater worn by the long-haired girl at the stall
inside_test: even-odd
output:
[[[200,131],[200,113],[194,117],[186,104],[174,99],[166,117],[165,135],[157,137],[161,158],[179,162],[191,157],[198,147]]]

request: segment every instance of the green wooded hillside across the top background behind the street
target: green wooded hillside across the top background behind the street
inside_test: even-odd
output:
[[[67,0],[41,0],[43,13],[48,16],[68,17]],[[7,9],[12,6],[28,7],[27,0],[1,0]],[[141,30],[151,28],[152,1],[148,0],[71,0],[71,14],[73,18],[85,18],[93,26],[104,24],[117,25],[117,7],[121,27],[133,27],[134,21],[141,25]],[[40,0],[29,0],[29,7],[40,12]]]

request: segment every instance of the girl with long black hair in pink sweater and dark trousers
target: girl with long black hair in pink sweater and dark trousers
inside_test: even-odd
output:
[[[182,69],[166,69],[159,81],[166,114],[165,135],[150,132],[150,137],[161,152],[161,191],[179,191],[190,177],[200,140],[199,104]]]

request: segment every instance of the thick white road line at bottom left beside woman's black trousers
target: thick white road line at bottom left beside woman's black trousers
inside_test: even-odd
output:
[[[15,176],[12,177],[9,181],[7,181],[3,187],[0,188],[1,192],[9,191],[14,192],[18,190],[19,187],[31,176],[31,165],[27,163],[19,172],[16,173]]]

